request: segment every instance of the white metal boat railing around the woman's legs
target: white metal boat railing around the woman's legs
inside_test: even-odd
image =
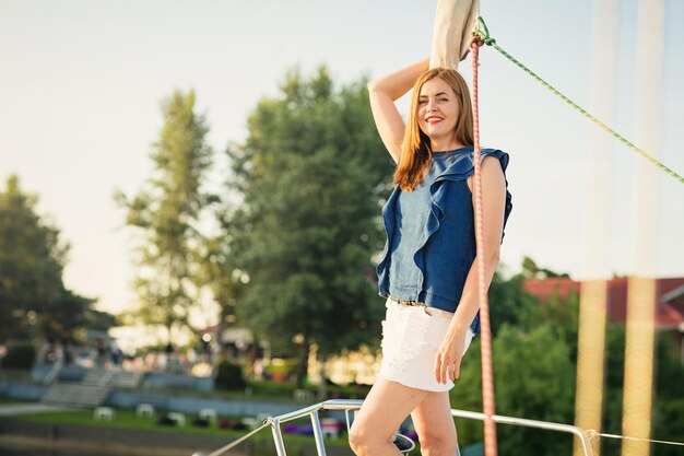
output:
[[[283,442],[283,433],[281,430],[281,424],[293,421],[299,418],[304,418],[307,414],[311,419],[311,425],[314,428],[314,441],[316,442],[316,451],[318,456],[326,456],[326,445],[323,444],[323,434],[320,425],[320,420],[318,417],[319,410],[343,410],[346,418],[346,429],[347,431],[351,428],[352,420],[350,419],[350,412],[356,411],[361,408],[363,400],[359,399],[330,399],[323,402],[314,404],[309,407],[305,407],[299,410],[292,411],[290,413],[280,414],[278,417],[269,417],[263,424],[259,428],[251,431],[249,434],[244,435],[237,441],[231,442],[229,444],[210,453],[208,456],[220,456],[228,452],[231,448],[237,446],[241,442],[251,437],[257,432],[261,431],[264,428],[270,426],[271,432],[273,433],[273,443],[275,444],[275,452],[278,456],[286,456],[285,452],[285,443]],[[473,411],[458,410],[451,409],[451,414],[456,418],[464,418],[469,420],[485,420],[485,414]],[[546,421],[536,421],[536,420],[528,420],[523,418],[515,418],[515,417],[504,417],[500,414],[495,414],[492,417],[494,422],[498,424],[510,424],[510,425],[520,425],[526,428],[536,428],[544,429],[547,431],[556,431],[556,432],[565,432],[569,434],[574,434],[581,441],[581,447],[583,449],[585,456],[593,456],[591,449],[591,443],[589,441],[589,436],[580,429],[571,424],[562,424],[562,423],[551,423]],[[196,453],[193,456],[203,456],[199,453]]]

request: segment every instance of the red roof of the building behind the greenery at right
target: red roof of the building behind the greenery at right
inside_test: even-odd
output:
[[[608,317],[612,321],[627,318],[627,278],[608,281]],[[542,302],[556,295],[567,299],[579,293],[581,283],[566,277],[529,279],[524,289]],[[684,325],[684,277],[656,279],[656,327],[670,329]]]

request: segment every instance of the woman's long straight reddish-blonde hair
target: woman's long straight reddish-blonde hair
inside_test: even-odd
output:
[[[418,77],[411,95],[411,108],[403,142],[401,143],[401,159],[394,172],[394,185],[404,191],[413,191],[421,185],[423,177],[432,165],[432,145],[427,135],[418,125],[418,97],[421,89],[427,81],[439,78],[453,90],[459,103],[459,114],[456,120],[453,138],[456,141],[473,144],[473,112],[470,101],[470,91],[465,80],[458,71],[450,68],[433,68]]]

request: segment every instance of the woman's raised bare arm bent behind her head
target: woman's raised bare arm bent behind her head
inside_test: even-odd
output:
[[[375,79],[368,83],[370,108],[380,138],[394,162],[401,156],[401,142],[406,128],[394,102],[413,87],[416,79],[427,70],[429,59]]]

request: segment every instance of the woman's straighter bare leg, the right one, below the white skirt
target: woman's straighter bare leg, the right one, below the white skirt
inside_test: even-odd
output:
[[[455,456],[456,425],[451,417],[449,393],[427,393],[411,413],[423,456]]]

